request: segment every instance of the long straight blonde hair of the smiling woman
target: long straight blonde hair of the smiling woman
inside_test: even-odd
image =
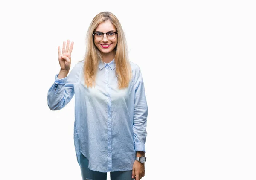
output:
[[[113,26],[116,27],[117,45],[114,51],[115,54],[115,64],[116,64],[116,76],[118,79],[118,87],[120,89],[126,88],[132,77],[131,66],[128,60],[127,44],[122,26],[119,20],[111,12],[105,11],[100,12],[96,15],[92,22],[90,23],[89,29],[86,35],[86,52],[84,56],[84,80],[87,87],[95,86],[95,77],[98,70],[99,62],[102,60],[102,55],[99,49],[95,46],[93,42],[93,32],[97,26],[109,20]]]

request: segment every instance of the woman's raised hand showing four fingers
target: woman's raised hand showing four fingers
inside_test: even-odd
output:
[[[59,59],[59,64],[61,66],[61,71],[67,71],[69,72],[70,70],[70,65],[71,65],[71,52],[73,50],[73,45],[74,42],[71,42],[71,45],[69,46],[69,40],[67,40],[67,46],[65,49],[65,44],[66,41],[63,41],[63,46],[62,46],[62,54],[61,54],[61,49],[60,46],[58,46],[58,59]]]

